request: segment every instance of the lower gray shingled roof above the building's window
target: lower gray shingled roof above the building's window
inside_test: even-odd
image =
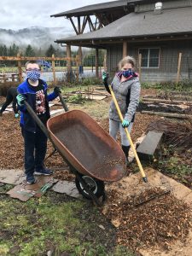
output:
[[[57,39],[58,44],[97,45],[113,44],[127,40],[148,40],[148,38],[188,38],[192,33],[192,8],[166,9],[160,15],[154,12],[131,13],[108,26],[94,32],[79,34],[70,38]],[[177,17],[177,19],[175,19]]]

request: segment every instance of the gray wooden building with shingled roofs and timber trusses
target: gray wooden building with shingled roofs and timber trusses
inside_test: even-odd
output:
[[[76,36],[55,42],[67,44],[68,48],[71,45],[95,48],[96,55],[98,49],[107,49],[109,73],[116,71],[123,56],[132,55],[138,62],[141,54],[143,81],[176,80],[179,64],[180,79],[192,79],[192,1],[156,2],[114,1],[53,15],[71,20],[84,17],[82,25],[78,23]],[[95,25],[90,15],[95,15]],[[84,33],[87,24],[90,32]]]

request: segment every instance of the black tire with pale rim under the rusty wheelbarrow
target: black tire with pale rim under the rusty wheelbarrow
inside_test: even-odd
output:
[[[97,198],[105,194],[105,184],[100,180],[96,180],[93,177],[81,175],[84,179],[84,182],[88,185],[89,189],[92,191]],[[76,187],[79,190],[79,194],[83,195],[86,199],[91,199],[89,193],[84,189],[82,183],[79,182],[79,179],[75,178]]]

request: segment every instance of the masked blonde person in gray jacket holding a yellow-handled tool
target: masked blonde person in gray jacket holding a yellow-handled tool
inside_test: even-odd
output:
[[[138,74],[134,72],[135,66],[135,59],[131,56],[126,56],[119,61],[119,72],[115,74],[112,81],[113,92],[124,117],[123,122],[119,119],[119,114],[113,101],[111,102],[109,109],[109,134],[116,140],[117,133],[120,131],[122,149],[125,153],[127,162],[130,143],[126,137],[124,128],[127,127],[128,131],[131,132],[141,90]],[[110,93],[107,73],[102,73],[102,80]]]

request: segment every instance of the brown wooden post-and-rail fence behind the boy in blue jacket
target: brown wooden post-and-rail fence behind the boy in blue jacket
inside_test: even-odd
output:
[[[19,78],[19,82],[21,83],[23,80],[22,77],[22,65],[21,61],[51,61],[52,64],[52,73],[53,73],[53,83],[56,84],[56,75],[55,75],[55,61],[67,61],[67,74],[71,73],[72,65],[71,62],[75,62],[76,66],[76,76],[77,76],[77,81],[79,81],[79,56],[77,55],[76,57],[55,57],[55,55],[52,55],[52,57],[25,57],[25,56],[20,56],[19,54],[17,56],[0,56],[0,61],[17,61],[17,67],[18,67],[18,73],[10,74],[9,76],[11,77],[12,81],[15,81],[15,78]],[[4,83],[7,81],[6,74],[0,74],[0,79],[3,80]],[[67,76],[67,80],[69,81],[70,77]]]

